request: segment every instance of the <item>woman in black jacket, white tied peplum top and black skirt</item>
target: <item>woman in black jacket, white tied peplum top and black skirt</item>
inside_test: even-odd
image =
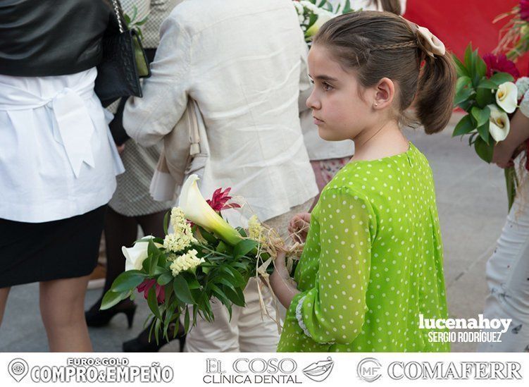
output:
[[[54,352],[92,350],[85,292],[123,172],[94,94],[115,23],[106,0],[0,2],[0,323],[10,287],[39,282]]]

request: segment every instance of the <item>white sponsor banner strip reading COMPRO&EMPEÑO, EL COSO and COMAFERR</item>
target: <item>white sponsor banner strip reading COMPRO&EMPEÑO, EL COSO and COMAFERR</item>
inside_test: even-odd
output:
[[[523,353],[1,353],[8,386],[527,386]]]

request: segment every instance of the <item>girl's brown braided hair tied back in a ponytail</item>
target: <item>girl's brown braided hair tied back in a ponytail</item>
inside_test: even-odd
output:
[[[399,123],[422,123],[428,134],[448,124],[456,84],[452,56],[426,54],[414,25],[401,16],[380,11],[337,16],[320,28],[313,44],[328,48],[345,70],[354,69],[362,87],[382,78],[394,81]],[[406,109],[414,99],[416,114],[411,116]]]

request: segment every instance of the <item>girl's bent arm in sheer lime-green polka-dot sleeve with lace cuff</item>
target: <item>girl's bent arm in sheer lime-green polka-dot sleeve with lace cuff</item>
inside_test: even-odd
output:
[[[319,218],[316,287],[294,295],[288,313],[314,341],[349,344],[366,313],[375,215],[368,200],[337,188],[323,191]]]

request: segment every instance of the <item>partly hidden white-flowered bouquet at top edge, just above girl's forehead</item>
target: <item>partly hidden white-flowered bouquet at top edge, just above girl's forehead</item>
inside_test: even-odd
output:
[[[305,42],[309,46],[314,35],[326,21],[337,15],[354,11],[349,0],[343,7],[342,4],[338,4],[335,9],[327,0],[293,0],[293,2],[299,16],[299,25],[305,35]]]

